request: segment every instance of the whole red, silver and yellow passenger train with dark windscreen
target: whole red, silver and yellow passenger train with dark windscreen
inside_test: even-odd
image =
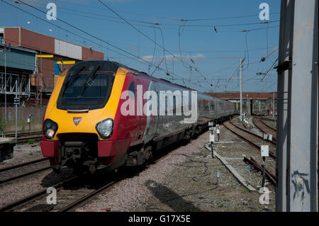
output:
[[[94,172],[140,165],[153,152],[235,113],[233,103],[200,93],[194,100],[191,91],[195,94],[117,62],[74,64],[58,79],[47,105],[43,156],[55,171],[61,166]],[[164,102],[159,100],[163,92]],[[187,123],[185,109],[191,107],[196,115],[189,118],[195,120]]]

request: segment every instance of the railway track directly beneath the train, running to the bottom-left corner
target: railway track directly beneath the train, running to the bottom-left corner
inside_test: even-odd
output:
[[[154,164],[161,159],[168,152],[174,150],[177,145],[172,145],[167,149],[163,149],[162,152],[155,153],[150,162],[147,164]],[[138,174],[141,170],[145,169],[144,166],[136,166],[129,169],[120,170],[119,173],[113,173],[109,175],[101,175],[101,178],[90,174],[84,174],[82,176],[74,176],[67,181],[62,181],[52,186],[57,191],[57,204],[47,204],[47,188],[26,196],[13,203],[9,203],[0,208],[0,212],[13,211],[13,212],[68,212],[76,209],[80,205],[84,205],[92,198],[95,198],[99,193],[107,191],[113,185],[119,181]],[[92,179],[93,178],[93,179]],[[94,181],[92,181],[94,180]]]

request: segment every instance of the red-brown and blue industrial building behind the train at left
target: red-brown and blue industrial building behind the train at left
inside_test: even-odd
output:
[[[0,103],[12,107],[18,83],[20,106],[45,106],[58,76],[103,52],[21,27],[0,28]]]

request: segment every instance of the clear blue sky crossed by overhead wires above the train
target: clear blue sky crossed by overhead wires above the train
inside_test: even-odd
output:
[[[23,0],[45,12],[48,3],[55,3],[57,18],[100,40],[60,21],[48,21],[65,30],[57,28],[41,21],[47,21],[44,13],[11,0],[4,1],[38,18],[0,1],[0,27],[21,26],[86,47],[92,46],[94,50],[104,52],[109,60],[150,74],[155,71],[155,77],[186,84],[198,91],[239,91],[236,69],[240,58],[246,57],[243,91],[276,90],[276,71],[269,69],[276,66],[278,57],[280,1],[103,0],[140,30],[139,33],[99,1]],[[260,24],[264,22],[258,16],[262,11],[259,4],[262,3],[269,4],[269,21],[274,22]],[[260,62],[262,57],[267,57],[266,61]],[[160,69],[155,70],[157,65]],[[261,81],[264,75],[257,73],[268,70],[267,77]]]

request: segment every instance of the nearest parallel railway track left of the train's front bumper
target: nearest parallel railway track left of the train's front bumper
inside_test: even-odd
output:
[[[25,176],[30,176],[32,174],[36,174],[38,172],[50,169],[50,166],[41,166],[41,164],[39,166],[40,162],[45,162],[45,161],[47,161],[47,158],[36,159],[34,161],[25,162],[23,164],[17,164],[14,166],[9,166],[9,167],[0,169],[0,185],[7,183],[9,181],[20,179]],[[25,168],[26,166],[28,166],[28,169]],[[21,171],[26,171],[26,172],[21,174]]]

